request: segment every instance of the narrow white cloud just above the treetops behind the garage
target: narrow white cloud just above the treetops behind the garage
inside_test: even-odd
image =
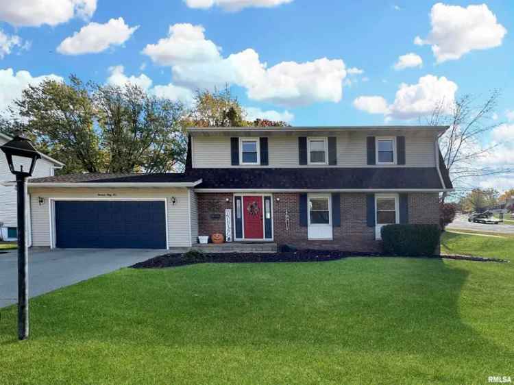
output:
[[[124,86],[125,84],[134,84],[143,88],[150,95],[156,95],[156,97],[162,97],[170,99],[172,101],[182,101],[186,105],[193,103],[193,92],[188,88],[174,86],[173,84],[156,85],[152,87],[152,80],[141,73],[139,76],[125,75],[125,69],[123,66],[111,66],[108,71],[110,72],[107,78],[107,84],[112,86]]]

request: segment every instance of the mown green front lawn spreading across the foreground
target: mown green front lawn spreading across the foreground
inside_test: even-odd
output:
[[[514,260],[513,242],[442,245]],[[514,376],[513,303],[511,263],[122,269],[32,300],[23,343],[3,310],[0,384],[485,384]]]

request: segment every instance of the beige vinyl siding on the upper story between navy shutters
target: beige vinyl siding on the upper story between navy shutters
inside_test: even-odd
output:
[[[338,167],[369,167],[367,165],[367,136],[397,136],[384,132],[339,132],[337,138]],[[435,133],[430,131],[406,132],[406,167],[435,166]],[[193,167],[245,167],[230,164],[229,136],[194,136]],[[269,165],[264,167],[299,167],[298,136],[273,135],[268,138]],[[311,167],[319,167],[310,165]],[[254,166],[255,167],[255,166]],[[302,166],[306,167],[306,166]],[[326,165],[324,165],[326,167]],[[379,166],[371,166],[379,167]],[[385,166],[385,167],[395,167]],[[399,166],[404,167],[404,166]]]

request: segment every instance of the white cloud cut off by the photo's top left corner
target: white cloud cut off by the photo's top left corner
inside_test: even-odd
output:
[[[58,25],[74,17],[90,18],[97,0],[17,0],[1,1],[0,21],[18,27]]]

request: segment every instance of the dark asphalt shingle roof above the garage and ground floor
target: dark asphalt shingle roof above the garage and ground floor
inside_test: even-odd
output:
[[[441,169],[441,171],[444,171]],[[445,179],[448,176],[443,173]],[[71,174],[30,179],[30,183],[173,183],[196,182],[196,188],[216,189],[440,189],[435,167],[363,168],[227,168],[191,169],[186,173]],[[449,179],[448,179],[449,180]],[[451,186],[445,180],[446,188]]]

